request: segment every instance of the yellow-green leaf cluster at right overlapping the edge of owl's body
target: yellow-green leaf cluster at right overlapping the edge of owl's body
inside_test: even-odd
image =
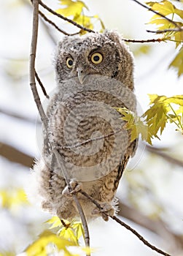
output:
[[[141,139],[152,145],[152,138],[158,138],[168,121],[176,125],[176,130],[183,134],[183,95],[166,97],[149,94],[150,108],[141,116],[127,108],[117,108],[126,121],[126,129],[131,131],[131,141],[141,135]]]

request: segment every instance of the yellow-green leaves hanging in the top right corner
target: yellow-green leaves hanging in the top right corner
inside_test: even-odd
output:
[[[163,40],[176,42],[178,53],[169,67],[174,67],[180,76],[183,74],[183,10],[168,0],[149,1],[147,4],[152,10],[164,15],[164,17],[157,14],[153,15],[149,23],[157,26],[157,33],[163,33]],[[174,23],[166,18],[174,20]]]

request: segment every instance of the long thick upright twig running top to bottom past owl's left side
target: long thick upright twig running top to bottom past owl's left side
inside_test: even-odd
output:
[[[34,96],[34,101],[36,102],[36,106],[39,110],[39,115],[42,119],[42,123],[44,124],[44,129],[47,132],[47,116],[44,113],[44,110],[42,108],[42,103],[39,98],[38,91],[36,89],[36,80],[35,80],[35,59],[36,59],[36,44],[37,44],[37,34],[38,34],[38,24],[39,24],[39,0],[33,1],[33,30],[32,30],[32,39],[31,39],[31,53],[30,53],[30,85],[31,85],[31,91]],[[67,176],[66,170],[63,170],[63,159],[61,155],[58,153],[57,149],[55,148],[55,145],[51,143],[53,154],[55,154],[55,157],[58,161],[58,164],[61,167],[61,170],[63,172],[63,176],[66,179],[66,183],[68,184],[69,191],[71,192],[71,186],[69,185],[69,177]],[[79,203],[79,200],[77,199],[77,195],[73,195],[73,199],[77,205],[77,209],[79,211],[80,217],[82,219],[82,225],[85,230],[85,244],[87,247],[90,246],[90,238],[89,238],[89,232],[87,227],[87,222],[85,219],[85,214],[82,211],[82,206]],[[90,256],[90,254],[88,255]]]

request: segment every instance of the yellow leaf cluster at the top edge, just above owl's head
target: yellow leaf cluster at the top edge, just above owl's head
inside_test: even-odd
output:
[[[77,24],[84,26],[87,29],[94,28],[94,23],[99,21],[100,24],[100,31],[104,31],[104,23],[98,17],[98,15],[88,16],[85,15],[85,11],[89,11],[87,5],[83,1],[73,1],[73,0],[60,0],[59,1],[62,8],[56,10],[59,14],[67,17],[72,18]],[[86,31],[80,30],[79,34],[85,34]]]

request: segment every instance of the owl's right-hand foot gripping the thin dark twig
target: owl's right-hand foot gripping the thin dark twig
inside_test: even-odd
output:
[[[101,215],[101,217],[107,222],[109,216],[114,216],[114,208],[110,203],[104,202],[100,203],[101,208],[94,208],[92,211],[93,215]]]

